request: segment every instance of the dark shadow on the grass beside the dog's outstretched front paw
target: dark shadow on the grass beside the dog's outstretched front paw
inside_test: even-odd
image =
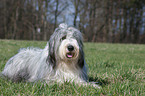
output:
[[[110,84],[110,81],[108,78],[102,79],[102,78],[93,78],[93,77],[89,77],[89,82],[95,82],[96,84],[100,85],[100,86],[105,86]]]

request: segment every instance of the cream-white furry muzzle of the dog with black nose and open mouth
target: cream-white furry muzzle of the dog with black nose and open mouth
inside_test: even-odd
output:
[[[79,56],[79,46],[75,39],[65,39],[59,47],[59,57],[62,60],[72,61]]]

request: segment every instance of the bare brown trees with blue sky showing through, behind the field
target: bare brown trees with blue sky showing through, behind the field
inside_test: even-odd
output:
[[[0,38],[48,40],[61,22],[89,42],[145,43],[144,0],[1,0]]]

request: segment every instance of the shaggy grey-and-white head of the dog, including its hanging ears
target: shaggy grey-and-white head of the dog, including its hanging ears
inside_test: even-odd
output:
[[[62,26],[63,25],[63,26]],[[57,61],[77,61],[84,65],[82,34],[74,27],[59,25],[49,40],[49,62],[55,66]]]

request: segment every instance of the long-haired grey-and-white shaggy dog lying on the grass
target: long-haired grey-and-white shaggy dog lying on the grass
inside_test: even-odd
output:
[[[88,82],[81,32],[65,23],[59,25],[44,49],[22,48],[5,65],[2,75],[14,82],[45,80],[79,85],[98,85]]]

